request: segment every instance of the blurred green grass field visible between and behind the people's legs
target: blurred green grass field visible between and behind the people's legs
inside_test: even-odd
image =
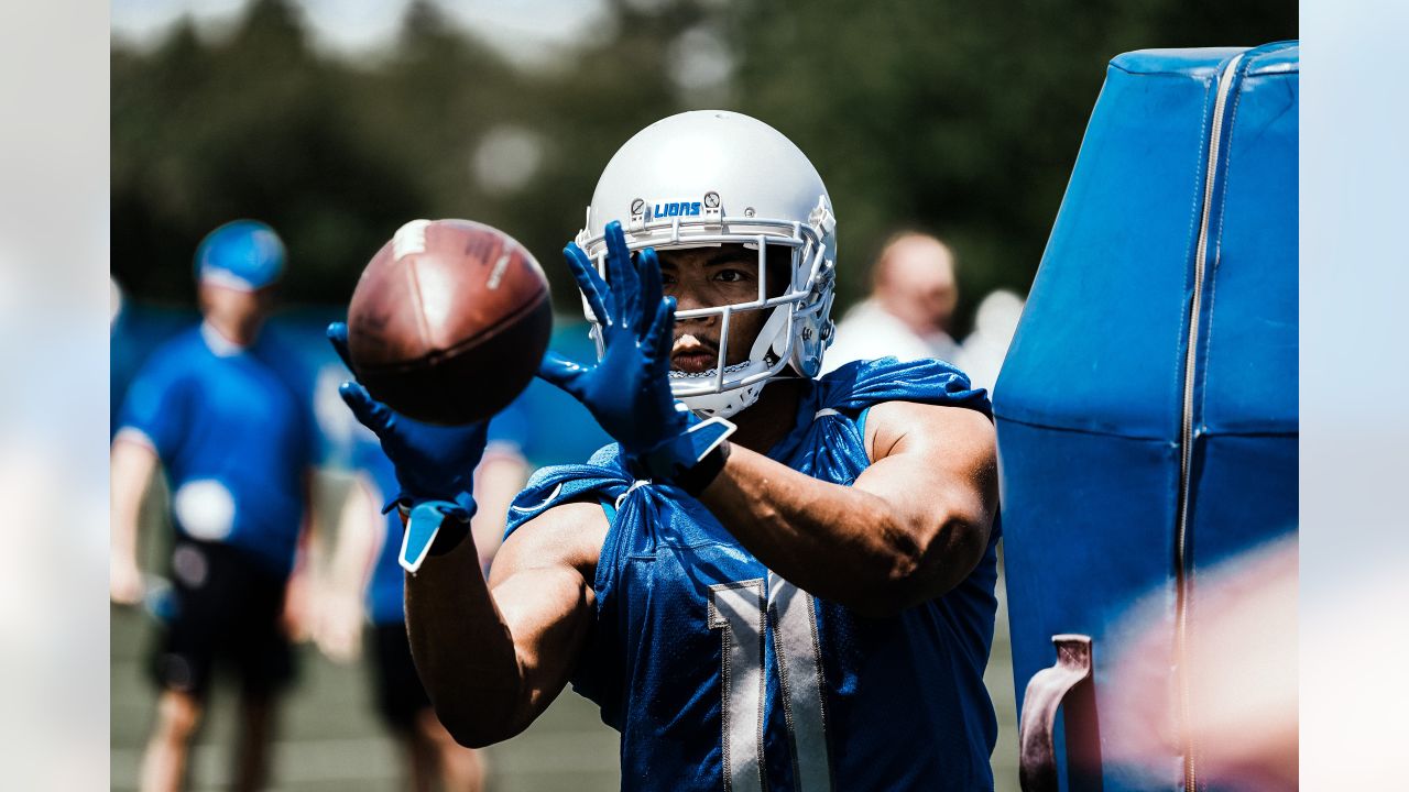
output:
[[[335,502],[341,486],[320,488]],[[328,512],[324,512],[328,513]],[[165,530],[148,520],[148,537]],[[147,530],[144,528],[144,530]],[[148,543],[148,558],[159,543]],[[148,561],[148,564],[154,564]],[[159,569],[159,565],[148,567]],[[999,791],[1017,789],[1017,722],[1006,600],[999,596],[998,634],[986,682],[998,709],[999,743],[993,771]],[[152,723],[155,688],[147,655],[155,637],[139,610],[113,609],[111,620],[111,778],[113,789],[135,789],[141,747]],[[272,789],[282,792],[385,792],[403,788],[402,758],[372,709],[368,669],[342,667],[310,645],[299,650],[300,676],[287,696],[275,745]],[[223,789],[230,774],[234,693],[217,686],[192,757],[192,789]],[[495,792],[606,792],[619,788],[617,734],[596,706],[565,692],[524,734],[486,750]]]

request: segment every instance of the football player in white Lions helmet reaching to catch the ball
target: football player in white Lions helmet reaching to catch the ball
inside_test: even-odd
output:
[[[599,362],[540,372],[617,443],[534,475],[488,582],[465,528],[483,427],[344,386],[410,530],[438,524],[406,610],[459,741],[572,682],[621,733],[626,789],[992,788],[989,403],[937,361],[817,379],[836,251],[821,179],[766,124],[633,137],[565,251]]]

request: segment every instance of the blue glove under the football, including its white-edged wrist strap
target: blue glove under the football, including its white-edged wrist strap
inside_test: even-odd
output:
[[[352,369],[347,324],[330,324],[328,341]],[[442,527],[437,552],[459,544],[469,533],[469,519],[476,507],[471,492],[475,466],[485,454],[488,423],[447,427],[414,421],[372,399],[356,382],[344,382],[338,393],[356,420],[376,434],[382,452],[396,468],[402,490],[386,509],[410,509],[402,543],[402,567],[414,572]]]

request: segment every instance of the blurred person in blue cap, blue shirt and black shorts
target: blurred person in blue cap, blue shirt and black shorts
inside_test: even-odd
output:
[[[142,493],[158,469],[172,492],[173,613],[154,661],[161,686],[142,755],[144,791],[178,789],[218,664],[240,676],[234,789],[265,786],[275,699],[302,629],[300,545],[309,547],[311,424],[261,334],[283,242],[238,220],[196,252],[203,321],[158,348],[132,382],[113,440],[110,593],[142,599]],[[306,567],[304,567],[306,568]]]

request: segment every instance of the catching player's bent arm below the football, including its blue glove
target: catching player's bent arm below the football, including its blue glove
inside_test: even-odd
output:
[[[330,338],[345,359],[347,326],[331,327]],[[504,541],[486,581],[469,528],[486,426],[411,421],[351,382],[342,397],[396,466],[409,537],[421,536],[417,521],[435,527],[424,547],[407,540],[402,562],[411,571],[411,654],[437,716],[471,747],[523,731],[572,674],[590,624],[606,516],[595,503],[544,512]]]

